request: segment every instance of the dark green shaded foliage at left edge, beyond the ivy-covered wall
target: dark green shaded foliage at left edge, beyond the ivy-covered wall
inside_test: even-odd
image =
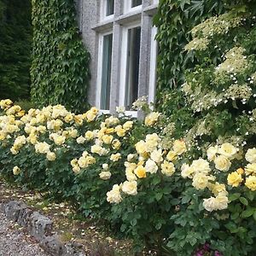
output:
[[[0,99],[30,97],[30,0],[0,0]]]

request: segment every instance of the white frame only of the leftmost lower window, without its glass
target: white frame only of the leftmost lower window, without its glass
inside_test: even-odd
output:
[[[96,81],[96,108],[101,113],[109,113],[109,109],[100,109],[101,107],[101,95],[102,95],[102,58],[103,58],[103,39],[105,36],[113,34],[113,31],[108,31],[99,34],[99,47],[98,47],[98,67],[97,67],[97,81]],[[112,57],[112,56],[111,56]]]

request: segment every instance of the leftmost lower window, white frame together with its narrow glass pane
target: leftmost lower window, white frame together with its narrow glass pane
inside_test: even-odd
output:
[[[112,32],[100,35],[96,105],[101,110],[109,110],[110,107],[112,46]]]

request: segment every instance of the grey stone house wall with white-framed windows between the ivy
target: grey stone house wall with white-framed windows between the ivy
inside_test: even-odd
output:
[[[158,0],[79,0],[79,27],[91,55],[89,102],[102,112],[154,102]],[[133,115],[137,113],[131,111]]]

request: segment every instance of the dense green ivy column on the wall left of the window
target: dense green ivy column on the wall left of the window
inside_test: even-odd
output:
[[[73,0],[32,0],[32,101],[87,108],[90,55],[79,35]]]

